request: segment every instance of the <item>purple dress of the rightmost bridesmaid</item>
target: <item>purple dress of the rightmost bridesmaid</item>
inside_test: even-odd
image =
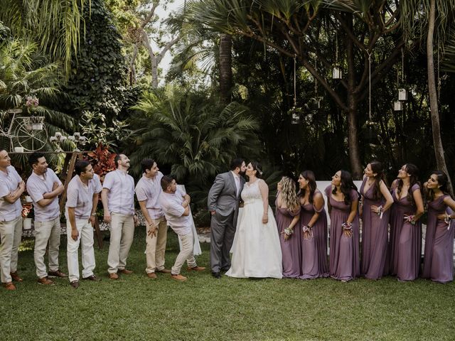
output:
[[[427,233],[425,234],[425,255],[423,278],[447,283],[454,279],[454,222],[446,224],[438,220],[437,215],[443,215],[447,210],[441,195],[428,203]],[[449,209],[451,213],[451,210]]]

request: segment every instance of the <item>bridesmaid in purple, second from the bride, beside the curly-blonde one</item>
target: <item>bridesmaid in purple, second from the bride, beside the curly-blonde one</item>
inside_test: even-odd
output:
[[[299,176],[302,279],[327,277],[327,215],[312,171]]]

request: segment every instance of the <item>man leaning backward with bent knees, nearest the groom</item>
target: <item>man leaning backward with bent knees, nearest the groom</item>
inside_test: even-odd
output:
[[[193,255],[193,229],[190,217],[190,196],[177,190],[177,183],[171,176],[161,178],[163,193],[159,196],[159,204],[169,226],[178,234],[182,247],[175,264],[171,269],[171,276],[176,281],[186,281],[186,277],[180,274],[185,261],[188,271],[203,271],[204,267],[196,264]]]

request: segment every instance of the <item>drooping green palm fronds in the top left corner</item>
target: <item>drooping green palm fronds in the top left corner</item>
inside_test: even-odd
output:
[[[0,0],[0,21],[16,37],[32,37],[68,79],[90,0]],[[82,30],[83,31],[83,30]]]

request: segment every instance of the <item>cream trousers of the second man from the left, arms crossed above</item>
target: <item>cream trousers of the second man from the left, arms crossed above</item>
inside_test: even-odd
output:
[[[35,259],[36,276],[43,278],[48,276],[45,269],[44,254],[49,242],[49,271],[58,270],[58,248],[60,247],[60,217],[48,222],[37,222],[35,220]]]

